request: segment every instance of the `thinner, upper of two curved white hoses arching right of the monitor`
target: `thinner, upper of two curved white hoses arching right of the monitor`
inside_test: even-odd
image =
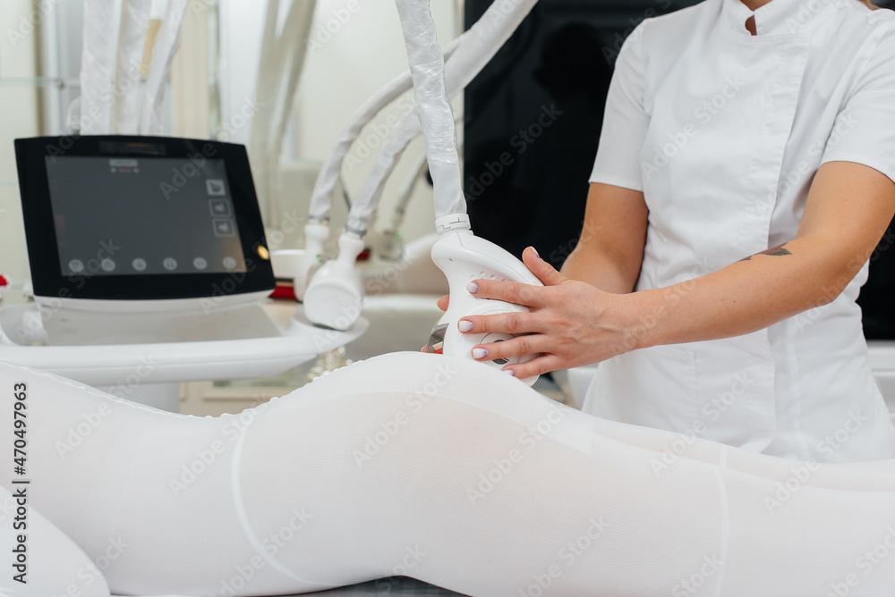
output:
[[[468,33],[468,32],[467,32]],[[454,55],[456,49],[464,43],[467,33],[454,39],[444,50],[445,59],[449,59]],[[339,181],[339,174],[342,171],[342,162],[348,155],[352,143],[361,134],[363,127],[370,122],[376,114],[395,101],[407,89],[413,86],[410,78],[410,71],[402,72],[394,80],[388,83],[379,92],[368,99],[355,112],[351,119],[339,131],[336,138],[336,145],[329,152],[327,161],[320,169],[320,175],[314,183],[314,190],[311,194],[311,220],[318,222],[326,222],[329,219],[329,211],[332,208],[333,192]]]

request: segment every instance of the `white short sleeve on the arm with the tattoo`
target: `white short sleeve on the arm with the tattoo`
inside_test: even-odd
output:
[[[874,48],[857,89],[836,117],[821,164],[855,162],[895,181],[895,32]]]

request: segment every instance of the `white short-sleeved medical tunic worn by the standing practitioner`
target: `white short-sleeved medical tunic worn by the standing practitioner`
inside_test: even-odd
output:
[[[644,192],[635,290],[647,290],[793,240],[814,173],[833,161],[895,180],[895,13],[706,0],[626,40],[591,181]],[[866,276],[865,264],[831,304],[760,332],[609,359],[584,410],[784,458],[893,458],[855,303]]]

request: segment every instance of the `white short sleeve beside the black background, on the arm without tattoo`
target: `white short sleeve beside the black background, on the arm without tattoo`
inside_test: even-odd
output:
[[[650,116],[644,109],[646,22],[637,26],[618,54],[591,182],[644,189],[640,152],[650,124]]]

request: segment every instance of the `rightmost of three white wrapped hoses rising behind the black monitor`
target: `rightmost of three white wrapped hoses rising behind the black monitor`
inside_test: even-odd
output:
[[[140,134],[158,135],[162,131],[162,104],[165,101],[165,83],[171,62],[180,45],[180,28],[189,0],[169,0],[165,21],[158,31],[156,46],[152,51],[152,65],[140,114]]]

